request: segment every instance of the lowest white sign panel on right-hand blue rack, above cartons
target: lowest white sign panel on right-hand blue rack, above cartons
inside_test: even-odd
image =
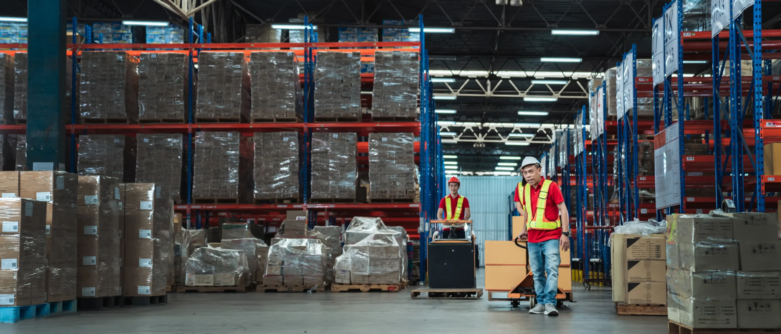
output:
[[[654,182],[656,209],[677,206],[681,202],[679,123],[654,135]]]

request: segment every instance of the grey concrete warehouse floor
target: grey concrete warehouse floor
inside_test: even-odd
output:
[[[482,270],[478,286],[482,287]],[[574,284],[576,285],[576,284]],[[414,287],[410,287],[412,289]],[[399,293],[169,294],[169,304],[77,312],[0,323],[0,333],[645,333],[667,332],[666,317],[615,315],[610,290],[574,288],[558,318],[509,302],[413,301]]]

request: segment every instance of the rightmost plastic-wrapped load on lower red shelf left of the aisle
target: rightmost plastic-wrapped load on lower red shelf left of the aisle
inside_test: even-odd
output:
[[[369,134],[369,199],[415,198],[415,137]]]

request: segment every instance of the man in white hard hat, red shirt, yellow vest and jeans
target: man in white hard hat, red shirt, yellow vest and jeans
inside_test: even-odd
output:
[[[556,290],[558,264],[562,261],[558,248],[569,250],[569,212],[562,190],[556,182],[543,178],[541,171],[537,158],[523,158],[521,173],[526,185],[519,182],[515,187],[515,208],[522,217],[518,237],[528,239],[529,266],[537,294],[537,305],[529,313],[558,315]]]

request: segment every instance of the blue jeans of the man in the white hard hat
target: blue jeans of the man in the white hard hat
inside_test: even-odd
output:
[[[529,266],[534,277],[537,303],[555,305],[556,290],[558,290],[558,264],[562,262],[562,258],[558,255],[558,239],[529,242],[526,246],[529,248]]]

